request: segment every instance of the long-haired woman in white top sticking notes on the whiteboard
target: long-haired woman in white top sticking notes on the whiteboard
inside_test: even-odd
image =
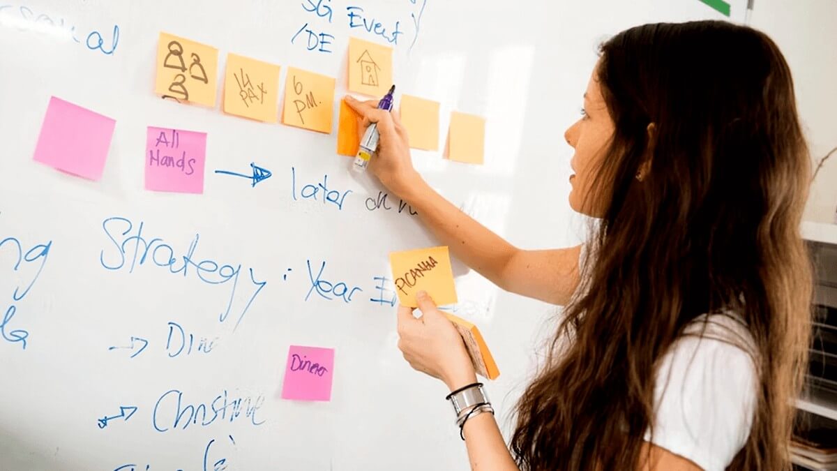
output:
[[[598,225],[568,249],[491,233],[413,171],[398,116],[349,103],[381,132],[372,172],[460,260],[565,306],[511,453],[493,414],[465,418],[472,468],[789,468],[809,344],[809,156],[788,65],[765,34],[660,23],[603,44],[565,133],[569,203]],[[419,306],[421,318],[398,310],[404,357],[451,391],[474,383],[456,330],[426,296]]]

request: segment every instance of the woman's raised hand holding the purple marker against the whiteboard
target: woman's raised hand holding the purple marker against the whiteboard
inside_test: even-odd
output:
[[[377,152],[369,162],[369,171],[390,191],[406,199],[408,189],[420,182],[421,177],[410,161],[407,131],[401,125],[398,112],[379,110],[376,100],[357,101],[351,95],[346,96],[346,103],[360,115],[357,129],[361,135],[370,124],[377,123],[381,139]]]

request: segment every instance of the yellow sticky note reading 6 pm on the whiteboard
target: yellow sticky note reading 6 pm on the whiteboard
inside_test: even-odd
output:
[[[331,134],[334,82],[326,75],[288,68],[282,122],[295,127]]]

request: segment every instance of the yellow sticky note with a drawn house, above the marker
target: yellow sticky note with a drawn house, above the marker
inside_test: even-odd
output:
[[[393,48],[349,38],[349,91],[381,97],[393,85]]]

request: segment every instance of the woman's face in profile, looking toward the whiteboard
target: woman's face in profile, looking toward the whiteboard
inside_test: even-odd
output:
[[[593,69],[584,92],[584,108],[581,119],[564,132],[567,143],[575,149],[570,167],[570,206],[573,210],[592,217],[602,217],[605,210],[604,192],[594,189],[593,183],[599,164],[614,135],[614,121],[604,103],[598,85],[598,66]]]

